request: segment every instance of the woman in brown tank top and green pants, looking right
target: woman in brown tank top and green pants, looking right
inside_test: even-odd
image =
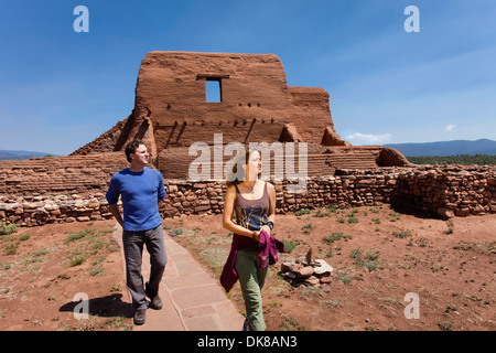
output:
[[[233,167],[224,203],[224,227],[234,233],[229,258],[241,285],[246,307],[244,329],[263,331],[261,289],[266,281],[269,266],[260,266],[259,242],[261,232],[271,234],[276,218],[276,191],[271,183],[259,180],[261,172],[260,152],[245,149],[238,158],[245,158]],[[246,161],[246,162],[245,162]],[[242,170],[238,171],[237,168]],[[235,176],[233,176],[235,175]],[[233,214],[236,213],[236,223]],[[265,236],[265,235],[263,235]],[[223,270],[220,281],[229,291],[234,285],[225,285],[228,275],[228,261]],[[229,287],[230,286],[230,287]]]

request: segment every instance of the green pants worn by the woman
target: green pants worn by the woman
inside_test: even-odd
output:
[[[266,322],[263,321],[261,290],[269,271],[269,265],[266,268],[260,268],[258,253],[238,250],[235,269],[245,299],[246,328],[248,331],[263,331],[266,330]]]

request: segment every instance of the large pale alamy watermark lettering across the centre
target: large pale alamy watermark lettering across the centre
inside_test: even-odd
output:
[[[298,181],[296,184],[289,184],[289,193],[298,193],[306,190],[308,179],[308,143],[298,142],[298,171],[295,170],[295,147],[296,142],[249,142],[250,150],[260,151],[262,162],[260,179],[269,180],[273,176],[276,181],[289,180]],[[223,143],[223,133],[214,133],[213,153],[211,146],[205,142],[194,142],[190,146],[188,154],[197,156],[190,164],[188,180],[191,181],[234,181],[244,178],[242,164],[246,164],[245,145],[240,142]],[[273,152],[274,170],[271,173],[271,153]],[[239,154],[240,153],[240,154]],[[200,154],[200,156],[198,156]],[[213,156],[212,156],[213,154]],[[225,164],[224,157],[234,156]],[[212,159],[213,157],[213,159]],[[237,164],[237,172],[233,169]]]

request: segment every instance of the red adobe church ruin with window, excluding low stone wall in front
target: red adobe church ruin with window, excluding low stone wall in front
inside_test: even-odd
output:
[[[206,100],[209,82],[219,101]],[[408,164],[396,150],[342,140],[328,98],[323,88],[288,86],[273,54],[152,52],[141,63],[132,114],[73,156],[121,151],[138,137],[165,178],[185,178],[195,158],[188,147],[213,146],[222,133],[224,145],[308,142],[309,174]]]

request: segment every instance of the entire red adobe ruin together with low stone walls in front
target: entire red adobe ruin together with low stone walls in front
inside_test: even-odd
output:
[[[208,83],[217,85],[218,101],[207,101]],[[292,181],[276,181],[278,213],[381,203],[442,217],[496,212],[496,168],[411,165],[393,149],[351,146],[334,130],[328,98],[323,88],[288,86],[276,55],[149,53],[128,118],[71,156],[0,161],[0,222],[110,218],[105,192],[110,176],[128,167],[123,149],[134,138],[147,142],[164,175],[163,216],[222,213],[222,182],[187,180],[196,158],[190,147],[212,147],[215,133],[224,145],[308,143],[306,189],[293,194]]]

